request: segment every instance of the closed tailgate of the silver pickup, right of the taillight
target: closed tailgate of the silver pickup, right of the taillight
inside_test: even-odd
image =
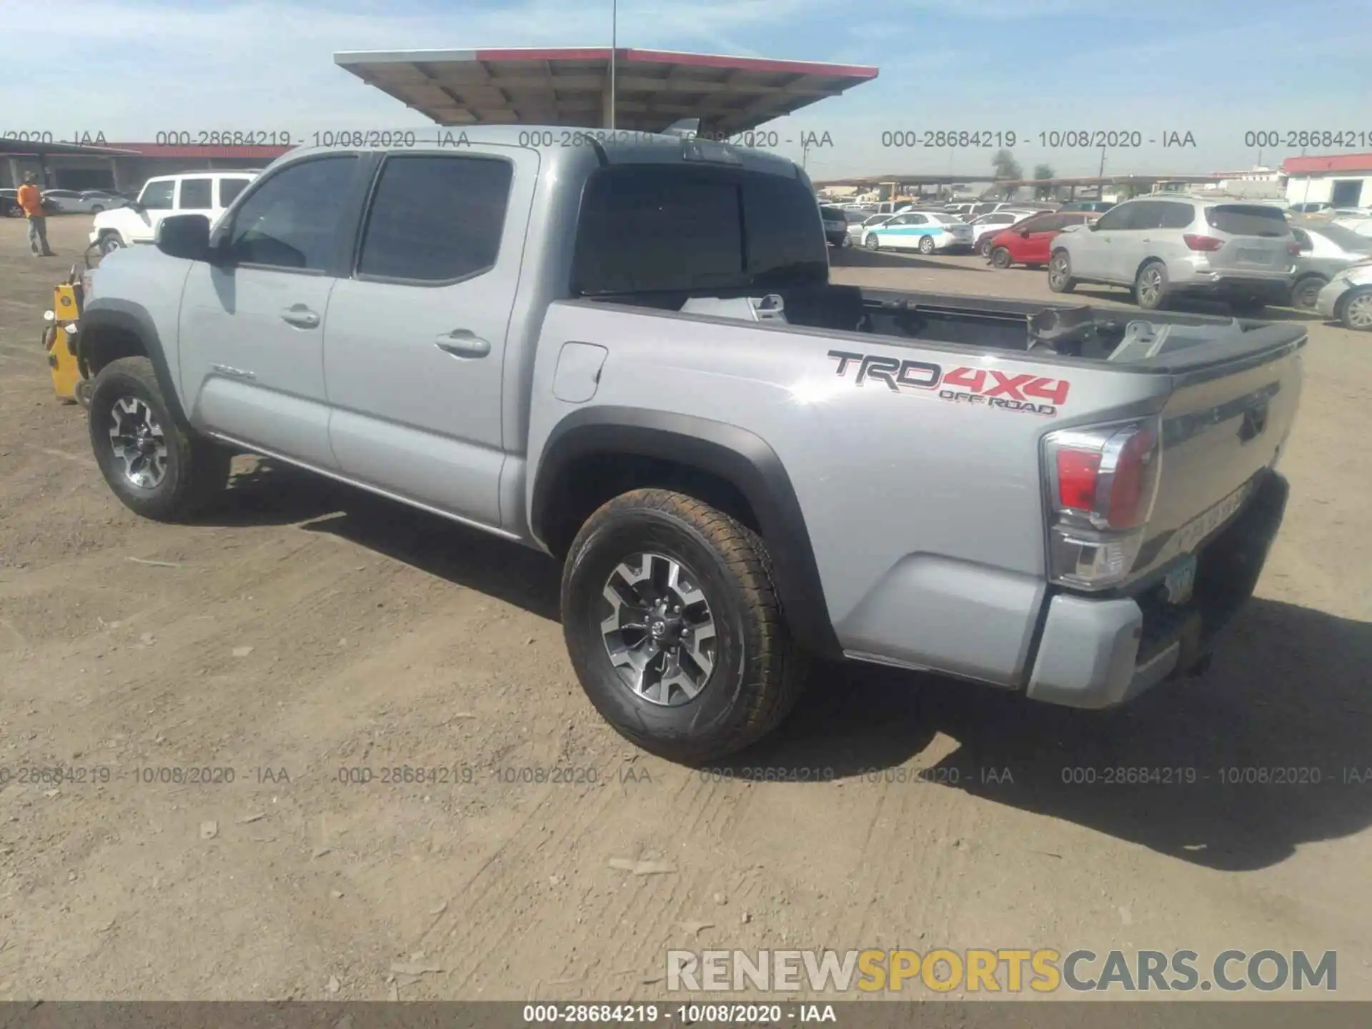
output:
[[[1295,421],[1305,342],[1303,329],[1265,325],[1168,362],[1158,491],[1131,579],[1195,552],[1243,509]]]

